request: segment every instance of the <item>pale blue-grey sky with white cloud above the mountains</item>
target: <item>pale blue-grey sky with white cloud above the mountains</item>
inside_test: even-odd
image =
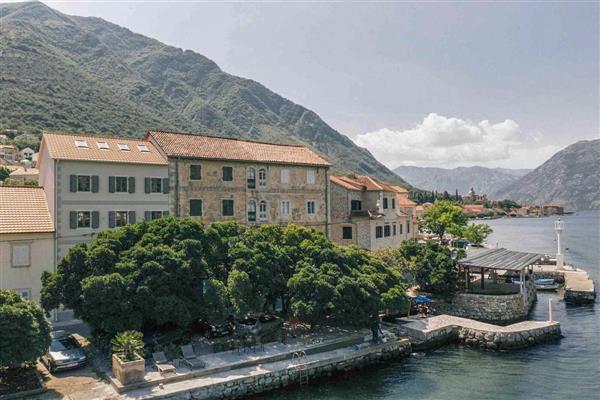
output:
[[[534,168],[600,137],[597,2],[44,2],[201,53],[391,168]]]

